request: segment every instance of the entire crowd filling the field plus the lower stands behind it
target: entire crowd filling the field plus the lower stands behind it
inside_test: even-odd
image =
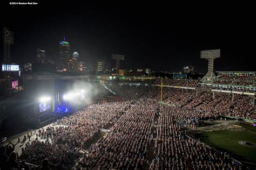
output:
[[[69,169],[72,158],[105,126],[107,136],[92,144],[77,169],[239,169],[226,153],[217,152],[185,136],[200,119],[219,115],[256,118],[253,98],[246,95],[160,87],[113,87],[123,101],[92,104],[40,129],[22,154],[1,147],[1,169]],[[122,92],[122,93],[121,93]],[[19,143],[19,141],[17,142]],[[14,147],[14,146],[13,146]],[[22,161],[23,163],[18,163]],[[28,167],[24,162],[38,165]]]

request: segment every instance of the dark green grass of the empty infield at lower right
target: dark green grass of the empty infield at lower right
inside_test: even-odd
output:
[[[233,158],[241,161],[256,162],[256,147],[240,145],[238,141],[250,141],[256,144],[256,128],[246,124],[238,124],[246,128],[244,131],[219,130],[198,134],[200,141],[213,146],[219,151],[225,151]]]

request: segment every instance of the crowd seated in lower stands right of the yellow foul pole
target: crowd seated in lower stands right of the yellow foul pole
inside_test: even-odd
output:
[[[217,115],[227,115],[255,119],[256,107],[253,96],[198,91],[166,89],[164,101],[177,107],[195,109],[201,112],[213,112]]]

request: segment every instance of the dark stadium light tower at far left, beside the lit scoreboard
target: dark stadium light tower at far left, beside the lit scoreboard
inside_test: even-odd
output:
[[[11,89],[11,45],[14,44],[14,33],[6,27],[3,27],[3,41],[4,41],[4,84],[5,84],[5,95],[10,96]]]

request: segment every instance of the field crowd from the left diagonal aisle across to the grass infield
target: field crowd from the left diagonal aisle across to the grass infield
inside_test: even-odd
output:
[[[157,115],[160,115],[158,120]],[[228,155],[185,137],[187,126],[214,115],[163,106],[144,100],[134,104],[106,138],[90,148],[76,167],[84,169],[235,169],[241,166]],[[156,121],[157,120],[157,121]],[[138,128],[139,127],[139,128]],[[153,153],[149,147],[156,133]]]

